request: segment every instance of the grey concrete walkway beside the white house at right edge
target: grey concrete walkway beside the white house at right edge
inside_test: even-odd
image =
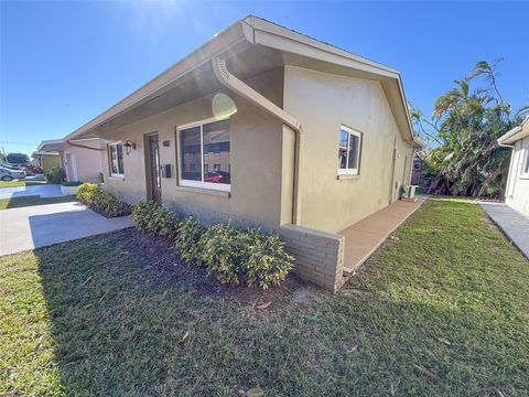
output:
[[[478,203],[507,238],[529,259],[529,217],[504,203]]]

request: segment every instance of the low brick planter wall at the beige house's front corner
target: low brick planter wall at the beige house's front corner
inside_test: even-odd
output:
[[[279,236],[295,257],[293,271],[298,276],[332,291],[342,287],[344,236],[298,225],[281,226]]]

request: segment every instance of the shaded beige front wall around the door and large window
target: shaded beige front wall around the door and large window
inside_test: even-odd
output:
[[[268,99],[282,105],[282,69],[246,82]],[[102,137],[107,143],[131,140],[137,149],[123,155],[125,179],[109,175],[108,153],[102,152],[105,187],[131,204],[147,197],[145,148],[143,137],[158,132],[160,162],[171,164],[172,176],[162,179],[162,201],[182,215],[193,214],[205,223],[231,222],[277,229],[281,217],[283,126],[247,100],[225,92],[237,104],[230,117],[231,190],[227,194],[179,186],[179,126],[212,118],[214,95],[181,105]],[[162,144],[169,141],[169,147]]]

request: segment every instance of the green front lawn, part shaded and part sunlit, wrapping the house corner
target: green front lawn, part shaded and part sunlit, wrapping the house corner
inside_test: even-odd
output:
[[[478,205],[429,201],[343,293],[264,310],[134,235],[0,258],[0,395],[528,394],[529,261]]]

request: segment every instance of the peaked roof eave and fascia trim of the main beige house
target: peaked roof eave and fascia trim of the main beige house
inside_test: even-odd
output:
[[[66,136],[64,141],[97,137],[97,128],[174,88],[185,75],[244,42],[259,44],[277,51],[327,62],[368,74],[370,78],[381,83],[404,141],[415,148],[423,147],[422,141],[418,140],[413,135],[401,76],[397,69],[350,54],[256,17],[248,17],[237,21],[216,34],[188,56]]]

